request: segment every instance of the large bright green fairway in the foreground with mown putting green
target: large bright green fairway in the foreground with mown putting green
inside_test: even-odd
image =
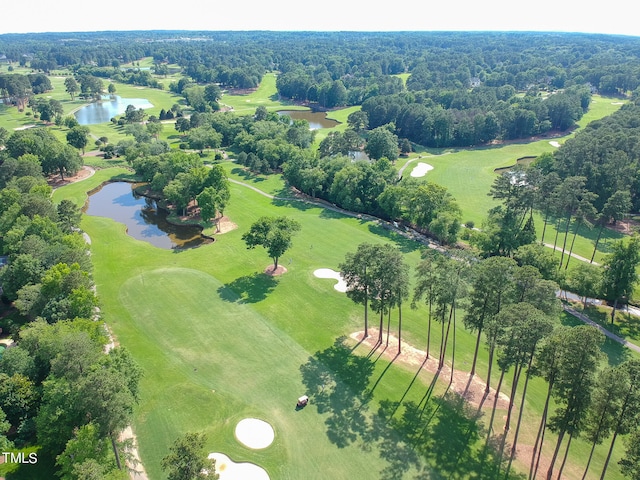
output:
[[[119,177],[127,172],[98,171],[57,190],[54,198],[83,203],[84,192],[110,174]],[[277,188],[275,184],[270,187]],[[163,478],[160,459],[173,439],[187,431],[206,431],[210,451],[223,452],[234,461],[255,462],[273,480],[327,475],[337,479],[403,478],[401,474],[414,478],[418,472],[427,475],[432,466],[444,478],[451,478],[454,468],[459,478],[469,478],[471,472],[485,468],[479,463],[478,448],[484,439],[482,425],[488,419],[486,415],[480,419],[479,430],[472,427],[465,417],[471,410],[441,400],[446,383],[437,383],[424,404],[427,412],[439,412],[431,423],[420,426],[428,432],[425,441],[433,447],[431,453],[415,459],[410,450],[398,450],[403,445],[403,428],[408,428],[402,427],[403,408],[394,416],[400,423],[382,421],[375,412],[401,399],[418,404],[428,395],[433,377],[427,372],[416,375],[415,367],[390,363],[386,356],[376,354],[367,360],[368,352],[362,346],[356,349],[364,355],[362,360],[350,360],[348,349],[337,347],[335,341],[361,328],[362,308],[336,292],[332,281],[313,276],[317,268],[337,269],[345,253],[363,241],[396,244],[415,268],[418,244],[374,222],[300,202],[272,201],[235,184],[226,213],[239,225],[237,230],[218,236],[214,244],[183,252],[133,240],[112,220],[83,218],[82,227],[93,240],[95,279],[105,321],[145,371],[134,429],[152,479]],[[278,278],[261,273],[269,263],[264,251],[247,250],[240,240],[251,222],[266,214],[285,214],[302,224],[293,248],[281,259],[289,272]],[[403,338],[419,348],[426,342],[425,315],[424,307],[406,309],[404,314]],[[396,329],[395,314],[393,317],[392,332]],[[573,319],[563,317],[562,321]],[[439,340],[436,326],[433,351]],[[463,371],[470,367],[473,342],[472,334],[456,329],[456,366]],[[613,343],[606,345],[606,352],[610,363],[629,355]],[[484,377],[484,351],[480,363],[478,373]],[[330,376],[337,377],[339,388],[332,389],[328,382],[325,391],[321,378]],[[497,373],[494,386],[495,382]],[[508,388],[505,378],[503,392]],[[535,434],[545,388],[539,380],[530,385],[522,446]],[[371,397],[365,394],[367,389],[373,390]],[[296,412],[295,399],[303,393],[310,394],[311,404]],[[259,451],[241,446],[233,430],[245,417],[269,421],[276,431],[274,444]],[[496,431],[501,418],[499,412]],[[548,442],[547,449],[552,445],[551,436]],[[609,478],[621,478],[614,464],[621,446],[622,442]],[[573,462],[587,452],[584,442],[573,442],[566,478],[580,477],[580,468]],[[604,453],[605,447],[597,449],[594,478]],[[446,458],[454,454],[458,462],[452,465]],[[408,466],[407,472],[402,466]]]

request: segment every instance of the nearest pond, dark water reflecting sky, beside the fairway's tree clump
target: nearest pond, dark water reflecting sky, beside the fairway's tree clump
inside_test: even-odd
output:
[[[158,208],[155,200],[135,194],[136,184],[113,182],[103,185],[89,196],[87,215],[112,218],[127,227],[127,234],[159,248],[185,249],[211,243],[197,226],[173,225],[168,212]]]

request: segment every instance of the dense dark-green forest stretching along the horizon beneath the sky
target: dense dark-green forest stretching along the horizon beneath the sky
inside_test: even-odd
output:
[[[362,105],[369,127],[432,147],[527,138],[575,125],[590,94],[624,94],[640,82],[631,37],[534,33],[138,32],[0,37],[6,61],[48,73],[163,88],[148,70],[120,68],[152,57],[153,73],[177,65],[193,84],[256,87],[278,71],[283,98],[317,108]],[[402,74],[408,74],[406,85]],[[0,79],[4,97],[19,90]],[[31,79],[32,87],[37,88]],[[20,88],[24,88],[20,87]],[[83,87],[83,91],[85,88]]]

